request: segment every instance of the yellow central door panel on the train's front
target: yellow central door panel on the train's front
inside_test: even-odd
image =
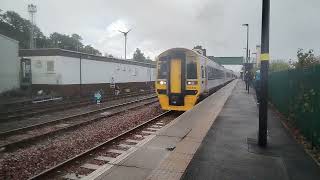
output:
[[[170,62],[171,93],[181,93],[181,60],[172,59]]]

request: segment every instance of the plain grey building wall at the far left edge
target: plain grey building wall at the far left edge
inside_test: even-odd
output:
[[[0,93],[19,88],[19,42],[0,34]]]

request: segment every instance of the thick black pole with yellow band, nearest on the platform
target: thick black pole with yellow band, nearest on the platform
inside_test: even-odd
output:
[[[259,137],[258,144],[267,146],[268,128],[268,69],[269,69],[269,25],[270,0],[262,0],[262,31],[261,31],[261,102],[259,105]]]

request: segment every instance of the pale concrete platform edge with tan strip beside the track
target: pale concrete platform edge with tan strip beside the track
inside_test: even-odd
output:
[[[143,147],[121,162],[112,164],[112,168],[96,179],[179,179],[236,82],[231,82],[183,113],[155,133],[155,137]]]

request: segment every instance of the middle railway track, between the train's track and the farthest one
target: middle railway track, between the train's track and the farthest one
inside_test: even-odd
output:
[[[105,117],[114,116],[121,112],[145,106],[157,102],[156,96],[150,96],[130,102],[102,107],[89,112],[63,117],[49,122],[34,124],[0,133],[0,149],[12,151],[37,142],[43,138],[57,135],[90,123],[99,121]]]

